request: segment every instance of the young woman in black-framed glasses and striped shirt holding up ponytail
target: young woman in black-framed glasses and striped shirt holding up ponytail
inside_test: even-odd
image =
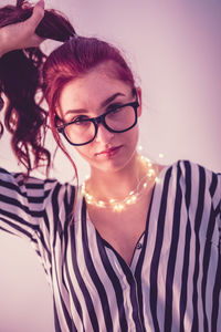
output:
[[[141,90],[119,51],[78,37],[53,11],[43,15],[43,1],[33,13],[22,3],[0,11],[6,125],[28,168],[0,170],[0,227],[34,243],[55,330],[219,331],[221,176],[139,156]],[[64,41],[48,59],[45,38]],[[50,165],[41,91],[57,145],[90,164],[83,187],[29,176]]]

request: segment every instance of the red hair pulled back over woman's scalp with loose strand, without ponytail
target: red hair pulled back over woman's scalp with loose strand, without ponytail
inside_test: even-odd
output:
[[[49,104],[49,116],[53,136],[75,168],[74,162],[66,152],[55,127],[55,115],[61,92],[70,81],[88,73],[98,64],[112,61],[113,72],[118,80],[135,87],[131,70],[119,50],[96,38],[72,37],[46,59],[43,66],[43,92]]]

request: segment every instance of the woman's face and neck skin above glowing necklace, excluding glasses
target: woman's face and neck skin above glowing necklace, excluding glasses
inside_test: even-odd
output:
[[[59,111],[59,116],[64,122],[72,121],[77,114],[88,117],[103,114],[108,105],[102,107],[102,103],[115,94],[120,95],[116,96],[109,105],[135,101],[131,86],[113,75],[113,62],[99,64],[83,77],[73,80],[64,86]],[[140,116],[140,89],[137,89],[137,92],[140,103],[138,116]],[[70,112],[72,110],[74,112]],[[77,110],[81,111],[75,113]],[[137,176],[139,176],[137,174],[137,141],[138,125],[120,134],[110,133],[103,125],[99,125],[97,136],[92,143],[75,147],[91,166],[91,179],[87,186],[92,190],[96,187],[98,197],[108,198],[106,193],[114,198],[124,197],[137,183]],[[120,146],[119,152],[113,157],[101,154],[101,152],[117,146]],[[124,184],[120,188],[116,186],[119,180]],[[99,188],[98,191],[97,188]]]

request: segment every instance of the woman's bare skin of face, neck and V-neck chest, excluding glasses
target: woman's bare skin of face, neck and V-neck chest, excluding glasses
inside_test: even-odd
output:
[[[131,95],[131,86],[119,81],[113,74],[113,62],[105,62],[83,77],[66,84],[61,93],[57,115],[64,122],[72,121],[80,112],[88,117],[98,116],[105,113],[107,107],[102,107],[102,103],[116,93],[120,95],[113,102],[133,102],[135,97]],[[137,93],[139,100],[138,116],[140,116],[140,89],[137,89]],[[81,111],[75,114],[75,112],[70,112],[71,110]],[[147,173],[147,166],[143,165],[137,157],[137,141],[138,125],[120,134],[110,133],[103,125],[99,125],[97,136],[92,143],[75,147],[91,166],[91,178],[86,183],[86,189],[96,199],[124,199]],[[120,146],[114,156],[99,154],[112,146]],[[157,165],[155,168],[157,174],[161,169]],[[145,231],[154,184],[154,179],[149,180],[148,189],[139,200],[120,212],[113,211],[108,207],[87,206],[90,221],[128,264],[131,262],[134,248]]]

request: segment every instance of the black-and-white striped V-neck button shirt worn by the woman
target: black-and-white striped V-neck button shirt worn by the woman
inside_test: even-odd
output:
[[[0,169],[0,229],[34,246],[56,332],[221,331],[221,175],[179,160],[158,177],[128,266],[74,186]]]

